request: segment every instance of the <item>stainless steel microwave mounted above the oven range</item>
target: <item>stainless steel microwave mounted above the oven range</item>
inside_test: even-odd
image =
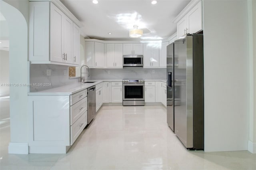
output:
[[[142,67],[143,55],[123,55],[123,67]]]

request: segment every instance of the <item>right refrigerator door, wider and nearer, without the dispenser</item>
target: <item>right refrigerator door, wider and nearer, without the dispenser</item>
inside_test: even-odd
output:
[[[174,132],[193,148],[193,37],[174,42]]]

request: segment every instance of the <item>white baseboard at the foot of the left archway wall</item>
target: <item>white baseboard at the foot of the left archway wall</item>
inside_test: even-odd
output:
[[[8,146],[9,154],[28,154],[28,143],[10,142]]]

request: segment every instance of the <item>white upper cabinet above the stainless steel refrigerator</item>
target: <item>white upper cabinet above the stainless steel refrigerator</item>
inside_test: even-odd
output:
[[[174,19],[177,23],[177,38],[187,33],[196,33],[202,30],[202,2],[193,0]]]

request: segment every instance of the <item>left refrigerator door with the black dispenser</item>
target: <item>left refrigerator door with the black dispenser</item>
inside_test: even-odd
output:
[[[167,70],[167,124],[174,131],[174,102],[173,102],[173,60],[174,43],[167,46],[166,70]]]

